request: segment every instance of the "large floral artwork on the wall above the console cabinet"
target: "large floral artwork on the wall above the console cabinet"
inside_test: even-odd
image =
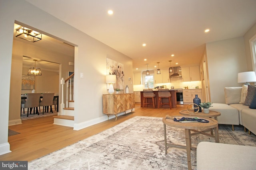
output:
[[[116,75],[114,89],[124,90],[124,64],[107,58],[107,74]]]

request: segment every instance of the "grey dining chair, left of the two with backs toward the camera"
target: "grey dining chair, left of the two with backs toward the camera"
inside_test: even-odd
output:
[[[39,112],[38,112],[39,100],[40,100],[40,93],[28,93],[26,102],[21,103],[21,108],[30,108],[30,114],[31,114],[32,109],[36,107],[36,113],[39,115]],[[27,117],[28,117],[28,114],[27,114]]]

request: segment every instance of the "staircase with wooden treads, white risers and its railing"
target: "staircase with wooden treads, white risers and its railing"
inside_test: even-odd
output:
[[[74,77],[74,73],[71,74],[66,80],[64,78],[61,78],[60,84],[61,84],[61,104],[60,104],[60,112],[58,113],[58,116],[54,117],[54,123],[55,125],[62,125],[62,126],[68,126],[68,127],[74,127],[74,100],[72,100],[72,94],[74,94],[74,90],[72,88],[72,84],[74,82],[72,81],[72,77]],[[64,85],[66,84],[66,107],[64,104]],[[70,91],[70,95],[68,96],[68,90]],[[69,98],[69,100],[68,100]]]

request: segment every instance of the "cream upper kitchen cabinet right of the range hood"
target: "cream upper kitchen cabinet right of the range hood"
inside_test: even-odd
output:
[[[200,81],[199,66],[182,67],[182,80],[184,82]]]

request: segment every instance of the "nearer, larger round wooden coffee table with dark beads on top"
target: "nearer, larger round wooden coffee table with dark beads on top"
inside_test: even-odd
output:
[[[162,119],[164,123],[164,146],[165,146],[165,154],[167,154],[167,147],[176,147],[176,148],[181,148],[181,149],[186,149],[187,150],[187,158],[188,158],[188,169],[191,170],[191,150],[196,150],[195,147],[191,146],[191,135],[196,135],[196,134],[203,134],[207,135],[209,137],[214,137],[215,142],[219,143],[219,132],[218,132],[218,121],[215,119],[211,118],[202,118],[205,120],[208,120],[209,123],[200,123],[200,122],[187,122],[187,123],[181,123],[178,121],[174,121],[174,117],[176,118],[181,118],[182,116],[173,116],[170,118],[164,117]],[[196,116],[188,116],[188,117],[199,117],[198,115]],[[170,127],[177,127],[177,128],[182,128],[185,129],[185,135],[186,135],[186,146],[182,145],[174,145],[174,144],[167,144],[166,142],[166,125]],[[209,129],[214,128],[214,135],[206,133],[206,131],[209,131]],[[195,133],[191,133],[190,131],[196,131]]]

